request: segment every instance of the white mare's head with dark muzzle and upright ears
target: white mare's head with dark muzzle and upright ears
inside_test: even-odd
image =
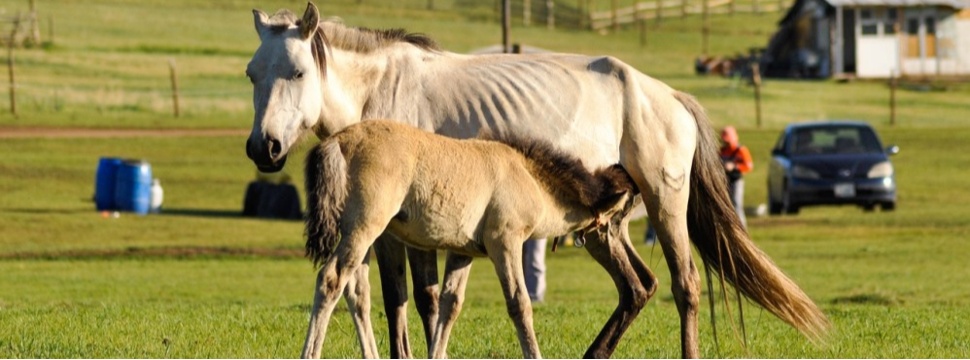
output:
[[[320,117],[326,50],[322,37],[314,37],[320,13],[312,3],[302,19],[287,10],[272,17],[253,10],[253,17],[260,45],[246,68],[255,110],[246,155],[260,171],[275,172]]]

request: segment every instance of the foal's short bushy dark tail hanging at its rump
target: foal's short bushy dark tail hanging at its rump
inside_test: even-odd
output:
[[[347,161],[330,139],[306,158],[306,257],[323,265],[340,240],[340,215],[347,200]]]

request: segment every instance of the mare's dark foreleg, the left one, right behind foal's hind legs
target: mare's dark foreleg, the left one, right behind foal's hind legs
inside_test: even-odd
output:
[[[409,359],[411,343],[408,339],[407,304],[408,284],[404,273],[405,246],[387,232],[381,234],[374,243],[377,266],[381,275],[381,290],[384,294],[384,312],[387,314],[387,329],[390,338],[391,358]]]

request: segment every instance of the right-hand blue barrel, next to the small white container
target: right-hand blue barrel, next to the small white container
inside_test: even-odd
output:
[[[148,214],[152,199],[151,165],[141,160],[122,161],[115,186],[118,210]]]

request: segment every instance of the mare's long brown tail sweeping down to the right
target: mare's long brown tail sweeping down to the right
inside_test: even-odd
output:
[[[697,121],[698,140],[691,169],[687,226],[708,273],[717,274],[722,281],[727,280],[745,297],[809,339],[820,340],[829,327],[825,315],[755,246],[741,224],[728,197],[724,167],[704,109],[688,94],[677,92],[674,97]]]

